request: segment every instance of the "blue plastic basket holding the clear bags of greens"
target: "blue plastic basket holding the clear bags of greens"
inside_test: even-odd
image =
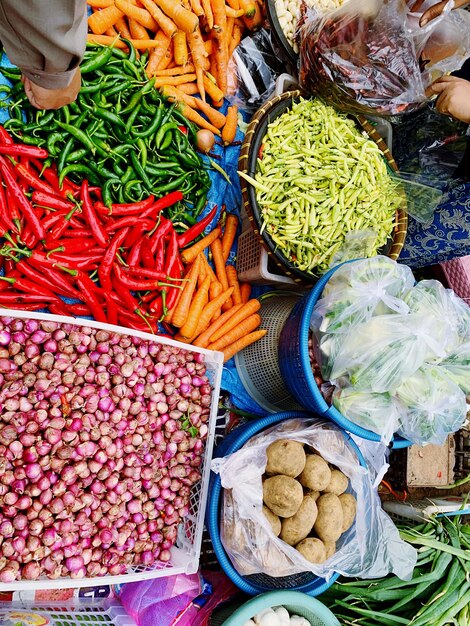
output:
[[[351,262],[347,261],[347,263]],[[357,426],[342,415],[336,407],[327,404],[315,382],[310,365],[308,354],[310,319],[326,283],[339,267],[341,265],[337,265],[324,274],[292,309],[279,337],[279,369],[287,389],[305,409],[332,420],[357,437],[369,441],[380,441],[380,435]],[[398,436],[392,441],[393,449],[407,448],[410,445],[408,440]]]

